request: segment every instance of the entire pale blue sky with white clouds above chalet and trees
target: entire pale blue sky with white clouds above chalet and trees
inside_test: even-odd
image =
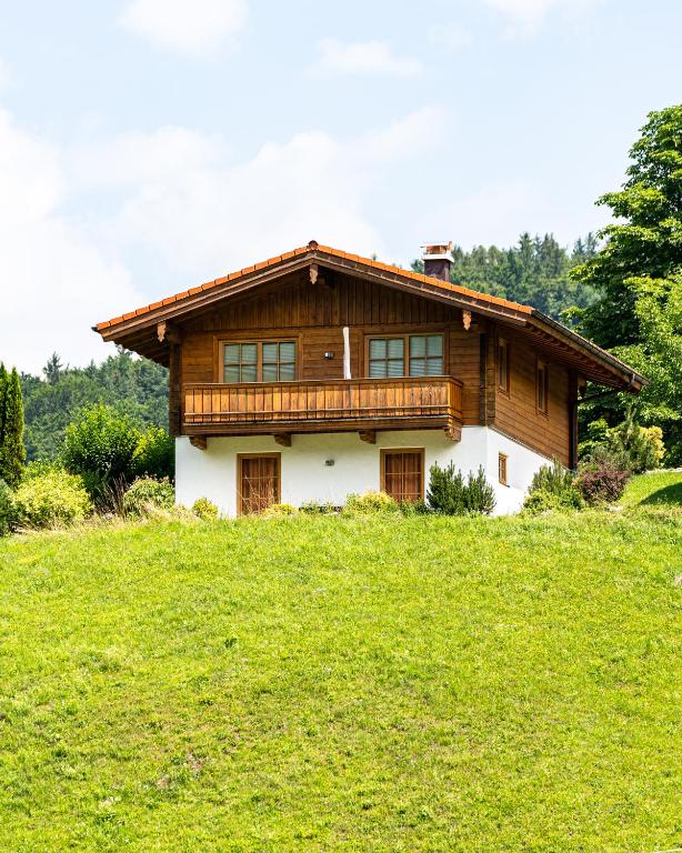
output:
[[[682,94],[679,0],[0,0],[0,361],[318,240],[564,245]]]

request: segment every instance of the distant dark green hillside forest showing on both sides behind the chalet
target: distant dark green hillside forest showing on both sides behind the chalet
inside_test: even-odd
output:
[[[596,299],[596,290],[569,278],[569,271],[596,251],[593,234],[572,251],[552,234],[523,233],[510,249],[455,248],[452,280],[473,290],[534,305],[558,320],[574,307]],[[420,261],[414,262],[419,269]],[[564,318],[565,319],[565,318]],[[119,349],[101,364],[71,368],[56,353],[42,375],[21,374],[29,460],[58,455],[67,426],[87,405],[106,403],[132,417],[140,426],[168,426],[168,372],[151,361]]]

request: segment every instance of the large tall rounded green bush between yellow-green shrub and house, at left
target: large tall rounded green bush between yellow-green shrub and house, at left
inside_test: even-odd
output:
[[[62,460],[81,474],[91,495],[99,499],[107,483],[129,479],[140,431],[132,419],[107,405],[83,409],[67,428]]]

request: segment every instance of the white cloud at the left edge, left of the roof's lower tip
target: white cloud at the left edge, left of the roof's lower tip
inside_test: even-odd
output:
[[[58,350],[82,363],[107,350],[90,327],[119,303],[141,301],[77,222],[58,152],[0,111],[0,361],[40,370]]]

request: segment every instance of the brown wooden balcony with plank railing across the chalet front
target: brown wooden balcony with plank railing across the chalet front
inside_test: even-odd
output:
[[[185,435],[443,429],[459,440],[462,383],[451,377],[182,387]]]

